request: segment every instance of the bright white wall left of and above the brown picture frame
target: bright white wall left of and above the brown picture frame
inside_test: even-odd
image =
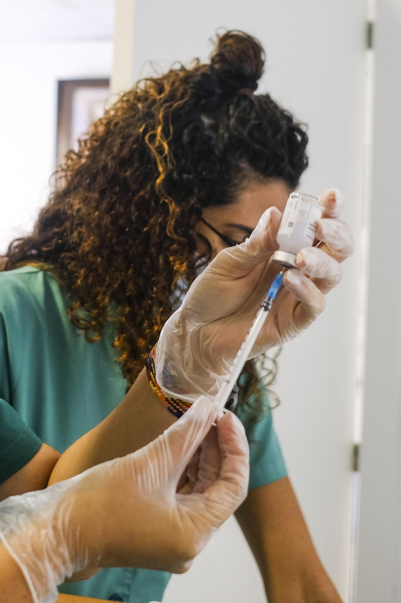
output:
[[[112,52],[111,41],[0,45],[0,253],[47,200],[57,80],[110,77]]]

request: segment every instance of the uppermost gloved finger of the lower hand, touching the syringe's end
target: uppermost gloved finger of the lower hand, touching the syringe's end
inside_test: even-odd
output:
[[[145,447],[159,479],[181,473],[206,437],[219,409],[207,396],[199,397],[182,417]]]

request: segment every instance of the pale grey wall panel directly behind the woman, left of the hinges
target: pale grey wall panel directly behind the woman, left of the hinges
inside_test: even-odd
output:
[[[364,115],[362,0],[137,0],[134,79],[149,60],[206,58],[220,26],[255,34],[267,51],[260,84],[309,124],[310,168],[302,190],[337,186],[358,244]],[[324,315],[288,344],[280,360],[276,427],[306,519],[344,599],[349,582],[351,449],[355,388],[358,253],[344,266]],[[206,578],[207,576],[207,578]],[[191,593],[189,595],[189,593]],[[166,601],[264,601],[260,578],[234,520],[184,576],[172,579]]]

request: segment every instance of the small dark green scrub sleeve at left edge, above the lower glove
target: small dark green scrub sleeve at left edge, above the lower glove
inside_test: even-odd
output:
[[[0,483],[36,455],[42,440],[14,409],[0,398]]]

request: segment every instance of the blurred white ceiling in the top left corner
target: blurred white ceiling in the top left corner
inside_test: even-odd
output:
[[[111,40],[114,0],[0,0],[0,44]]]

